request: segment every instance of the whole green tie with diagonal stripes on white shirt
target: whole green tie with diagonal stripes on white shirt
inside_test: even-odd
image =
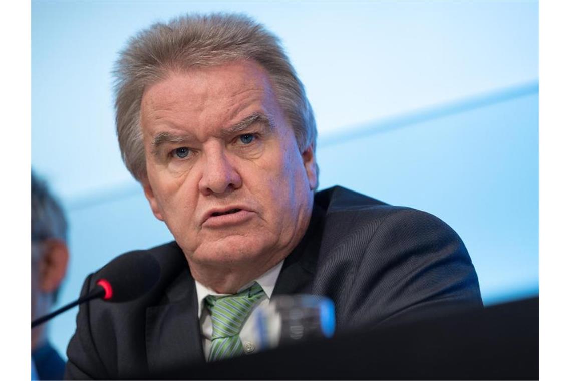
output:
[[[206,297],[212,318],[212,346],[208,361],[231,358],[243,354],[240,330],[254,304],[264,296],[258,283],[236,295]]]

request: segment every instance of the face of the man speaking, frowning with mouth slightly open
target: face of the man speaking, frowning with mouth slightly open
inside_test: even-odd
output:
[[[238,61],[147,87],[145,194],[191,265],[269,268],[303,236],[316,187],[266,71]]]

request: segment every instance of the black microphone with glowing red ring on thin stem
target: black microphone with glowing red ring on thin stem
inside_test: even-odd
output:
[[[107,302],[129,302],[142,296],[155,286],[160,277],[160,265],[145,251],[131,251],[107,263],[99,272],[96,286],[89,294],[75,302],[35,319],[32,328],[47,322],[54,316],[89,300],[101,298]]]

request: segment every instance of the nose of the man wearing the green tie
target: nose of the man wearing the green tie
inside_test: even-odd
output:
[[[242,186],[242,177],[228,159],[220,146],[203,151],[203,173],[198,183],[202,194],[225,194]]]

